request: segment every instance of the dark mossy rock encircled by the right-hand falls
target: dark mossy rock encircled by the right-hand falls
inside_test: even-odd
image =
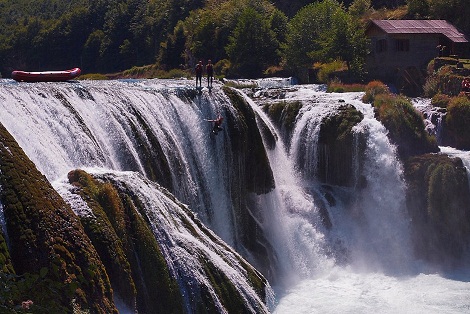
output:
[[[317,177],[327,184],[352,186],[355,183],[355,154],[362,155],[365,138],[354,135],[352,128],[364,115],[352,105],[340,106],[334,115],[323,119],[318,137]]]

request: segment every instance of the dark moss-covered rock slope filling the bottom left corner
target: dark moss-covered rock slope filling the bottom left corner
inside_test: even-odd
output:
[[[91,313],[117,312],[107,273],[77,216],[3,125],[0,186],[13,268],[41,278],[18,297],[32,300],[38,313],[71,312],[72,304]]]

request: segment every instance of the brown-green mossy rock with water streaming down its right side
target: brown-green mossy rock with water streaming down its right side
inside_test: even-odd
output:
[[[177,283],[134,206],[138,200],[81,170],[70,172],[68,178],[93,211],[93,217],[81,220],[121,299],[142,313],[182,313]]]

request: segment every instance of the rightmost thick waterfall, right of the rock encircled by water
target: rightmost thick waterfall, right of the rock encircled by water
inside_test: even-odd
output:
[[[367,148],[363,170],[366,186],[352,208],[359,218],[352,219],[359,231],[352,237],[356,242],[354,259],[368,268],[406,271],[403,268],[409,265],[412,252],[403,167],[387,130],[374,118],[372,106],[361,102],[355,106],[364,113],[355,131],[367,133]]]

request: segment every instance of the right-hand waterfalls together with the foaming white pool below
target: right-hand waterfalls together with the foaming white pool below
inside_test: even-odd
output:
[[[374,119],[370,105],[360,101],[360,93],[325,94],[321,88],[297,87],[286,91],[286,99],[301,100],[291,147],[292,158],[277,145],[270,161],[284,204],[294,204],[276,212],[281,221],[273,229],[282,241],[284,258],[292,266],[290,281],[276,286],[274,313],[466,313],[470,311],[470,271],[439,274],[414,260],[411,252],[409,218],[405,207],[402,166],[385,128]],[[341,101],[340,101],[341,100]],[[343,102],[344,101],[344,102]],[[313,202],[299,196],[301,186],[315,186],[318,124],[322,117],[343,103],[364,113],[355,128],[368,134],[363,175],[367,186],[351,203],[339,202],[329,208],[333,223],[325,231],[318,223]],[[261,115],[261,114],[260,114]],[[307,140],[306,140],[307,139]],[[310,145],[310,146],[308,146]],[[303,146],[303,147],[302,147]],[[298,154],[302,153],[302,156]],[[286,160],[287,158],[287,160]],[[291,160],[304,164],[292,165]],[[295,168],[307,169],[293,177]],[[279,178],[279,176],[281,178]],[[286,179],[287,178],[287,179]],[[292,180],[293,179],[293,180]],[[289,184],[281,184],[287,180]],[[276,193],[276,192],[273,192]],[[348,193],[348,191],[346,191]],[[287,200],[286,200],[287,199]],[[294,200],[294,201],[293,201]],[[299,201],[301,200],[301,201]],[[322,255],[322,247],[341,243],[349,253],[346,266]],[[307,245],[306,245],[307,244]],[[291,257],[295,251],[294,258]]]

